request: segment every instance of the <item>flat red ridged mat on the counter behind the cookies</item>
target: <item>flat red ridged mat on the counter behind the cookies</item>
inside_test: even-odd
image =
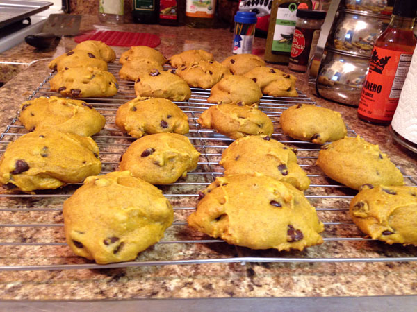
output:
[[[149,46],[151,48],[161,43],[157,35],[128,31],[88,31],[76,36],[74,40],[78,43],[85,40],[99,40],[109,46]]]

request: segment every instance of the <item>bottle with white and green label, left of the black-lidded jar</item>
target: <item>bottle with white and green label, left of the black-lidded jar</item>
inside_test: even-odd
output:
[[[288,64],[297,8],[311,9],[311,0],[273,0],[266,38],[265,62]]]

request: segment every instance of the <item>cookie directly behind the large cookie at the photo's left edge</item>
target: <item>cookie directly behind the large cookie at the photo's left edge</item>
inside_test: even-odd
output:
[[[20,108],[19,121],[29,131],[53,128],[90,137],[99,132],[106,119],[92,105],[70,98],[35,98]]]

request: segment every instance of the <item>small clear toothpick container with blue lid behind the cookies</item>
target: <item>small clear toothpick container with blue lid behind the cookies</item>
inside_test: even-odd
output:
[[[256,18],[255,12],[236,12],[234,17],[234,39],[231,46],[231,53],[247,54],[252,53],[254,43]]]

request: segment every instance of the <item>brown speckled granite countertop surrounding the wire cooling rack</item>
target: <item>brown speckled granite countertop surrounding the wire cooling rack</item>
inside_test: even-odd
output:
[[[161,37],[157,47],[170,57],[187,49],[206,49],[215,60],[222,61],[231,55],[232,34],[227,29],[204,30],[187,27],[148,26],[124,24],[111,26],[100,24],[95,16],[83,16],[81,30],[112,29],[117,31],[136,31],[154,33]],[[0,88],[0,129],[16,116],[19,105],[49,75],[48,62],[75,46],[71,37],[64,37],[52,51],[40,52],[26,44],[20,44],[13,51],[0,54],[0,60],[8,55],[22,54],[22,60],[40,60],[23,69],[15,78]],[[256,38],[254,53],[263,56],[265,39]],[[115,47],[118,56],[126,47]],[[24,51],[28,51],[26,56]],[[274,66],[280,69],[285,67]],[[341,112],[347,125],[373,144],[379,144],[393,162],[404,173],[416,177],[416,154],[395,144],[386,127],[368,125],[357,119],[357,110],[331,103],[311,94],[304,76],[298,77],[297,87],[319,105]],[[36,202],[36,200],[33,200]],[[13,198],[0,198],[2,208],[13,205]],[[33,212],[35,214],[35,211]],[[14,223],[19,222],[19,213],[13,215]],[[38,216],[38,215],[35,215]],[[9,216],[10,217],[10,216]],[[42,215],[37,218],[42,220]],[[56,220],[60,220],[58,212]],[[0,224],[10,223],[0,212]],[[58,222],[58,221],[57,221]],[[62,229],[51,229],[59,232]],[[13,237],[13,228],[1,231],[1,241]],[[174,244],[175,245],[175,244]],[[201,244],[204,245],[204,244]],[[325,246],[324,244],[323,246]],[[223,246],[223,247],[222,247]],[[333,246],[333,247],[332,247]],[[386,253],[393,249],[386,248]],[[1,246],[0,266],[18,264],[20,259],[26,263],[37,264],[40,258],[54,259],[58,263],[79,263],[78,257],[68,256],[66,246],[59,247],[19,247]],[[165,249],[164,249],[165,248]],[[163,247],[160,252],[165,252]],[[179,254],[181,246],[172,247]],[[199,246],[196,249],[200,248]],[[241,254],[231,246],[215,244],[201,247],[214,255],[247,256],[250,251],[243,249]],[[224,249],[222,249],[224,248]],[[320,247],[321,248],[321,247]],[[324,248],[324,247],[323,247]],[[326,248],[337,250],[338,245]],[[356,246],[366,252],[369,245],[364,242]],[[156,248],[155,248],[156,249]],[[395,248],[394,248],[395,249]],[[58,253],[57,253],[58,250]],[[417,254],[415,248],[408,248],[409,256]],[[337,250],[341,254],[345,250]],[[156,252],[154,250],[154,252]],[[350,252],[350,251],[348,251]],[[65,259],[60,258],[66,254]],[[350,252],[349,254],[354,254]],[[276,257],[276,256],[275,256]],[[101,270],[53,270],[53,271],[0,271],[1,299],[57,300],[57,299],[130,299],[130,298],[185,298],[185,297],[305,297],[305,296],[365,296],[365,295],[414,295],[417,293],[417,263],[214,263],[187,266],[145,266],[139,268],[117,268]]]

